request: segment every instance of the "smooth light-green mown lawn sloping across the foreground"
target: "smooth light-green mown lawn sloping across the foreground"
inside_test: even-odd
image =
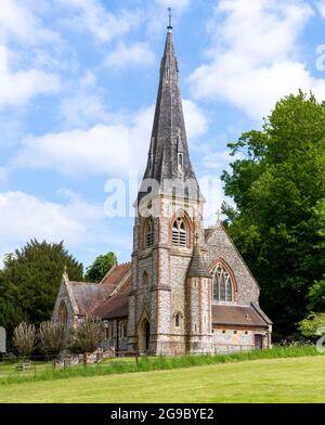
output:
[[[325,402],[325,358],[9,384],[0,402]]]

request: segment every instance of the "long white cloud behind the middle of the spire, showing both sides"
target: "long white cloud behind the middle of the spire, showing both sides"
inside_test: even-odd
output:
[[[150,144],[154,106],[140,110],[120,124],[98,124],[77,129],[26,137],[14,159],[16,167],[52,168],[70,176],[142,172]],[[192,101],[184,101],[188,138],[206,130],[206,118]]]

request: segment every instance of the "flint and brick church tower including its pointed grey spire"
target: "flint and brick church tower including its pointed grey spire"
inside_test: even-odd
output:
[[[169,24],[147,165],[135,203],[130,351],[174,355],[210,349],[204,202],[188,155]]]

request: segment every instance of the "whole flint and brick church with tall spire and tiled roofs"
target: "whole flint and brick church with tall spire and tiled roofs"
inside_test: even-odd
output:
[[[147,165],[134,204],[130,262],[99,284],[63,274],[53,320],[104,322],[104,347],[150,355],[271,347],[260,288],[220,220],[205,229],[191,164],[171,25],[160,64]]]

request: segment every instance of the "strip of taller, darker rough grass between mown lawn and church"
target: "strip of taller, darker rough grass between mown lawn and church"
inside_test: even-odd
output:
[[[320,356],[320,352],[312,346],[304,347],[277,347],[266,350],[255,350],[247,352],[235,352],[232,355],[216,356],[180,356],[180,357],[141,357],[136,364],[135,360],[113,359],[110,361],[92,364],[88,366],[77,365],[68,369],[54,370],[42,365],[26,371],[27,373],[2,375],[0,386],[8,384],[18,384],[27,382],[55,381],[69,377],[90,377],[101,375],[113,375],[134,372],[150,372],[159,370],[171,370],[180,368],[202,366],[218,363],[240,362],[259,359],[296,358],[306,356]],[[1,366],[0,366],[1,375]]]

